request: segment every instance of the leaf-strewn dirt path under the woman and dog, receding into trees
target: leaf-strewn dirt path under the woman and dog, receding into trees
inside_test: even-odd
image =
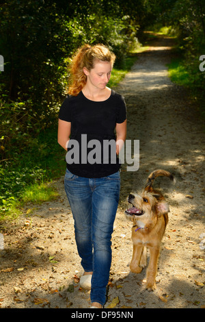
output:
[[[120,205],[113,232],[113,262],[107,304],[115,308],[201,308],[205,306],[204,143],[197,119],[182,88],[167,77],[172,40],[159,38],[141,53],[118,92],[128,108],[127,139],[140,140],[137,172],[122,166]],[[156,182],[169,202],[169,224],[163,238],[157,289],[148,292],[144,279],[131,273],[131,227],[124,210],[131,191],[141,190],[154,169],[175,173],[175,186]],[[73,220],[63,178],[55,182],[59,199],[28,206],[25,216],[1,227],[1,308],[88,308],[89,292],[79,288],[82,269],[74,241]],[[27,213],[26,213],[27,212]],[[201,242],[201,243],[200,243]],[[204,287],[203,287],[204,286]]]

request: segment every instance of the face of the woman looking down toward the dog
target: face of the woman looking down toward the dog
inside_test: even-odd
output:
[[[98,60],[94,63],[94,68],[88,71],[83,68],[85,75],[87,76],[87,83],[92,84],[95,88],[104,89],[109,82],[112,71],[111,62],[102,62]]]

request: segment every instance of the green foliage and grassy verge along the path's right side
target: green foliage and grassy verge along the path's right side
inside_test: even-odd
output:
[[[169,73],[174,82],[189,88],[204,110],[205,72],[199,69],[199,59],[205,54],[205,1],[165,0],[158,5],[161,10],[152,30],[177,37],[180,59],[172,62]]]

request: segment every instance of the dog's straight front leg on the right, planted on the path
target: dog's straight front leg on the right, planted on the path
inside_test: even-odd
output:
[[[155,278],[156,278],[156,270],[157,270],[157,261],[159,257],[159,248],[158,247],[150,247],[150,262],[147,270],[146,277],[146,288],[148,290],[155,290]]]

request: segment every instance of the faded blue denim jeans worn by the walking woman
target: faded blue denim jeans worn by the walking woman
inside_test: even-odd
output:
[[[111,234],[120,197],[120,172],[91,179],[78,177],[66,169],[64,184],[81,265],[85,272],[93,272],[90,299],[104,305],[111,267]]]

